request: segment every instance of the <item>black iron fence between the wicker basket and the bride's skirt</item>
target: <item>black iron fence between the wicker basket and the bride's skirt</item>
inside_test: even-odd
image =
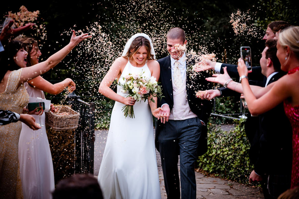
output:
[[[74,92],[67,99],[72,109],[80,113],[78,128],[75,130],[75,173],[93,174],[95,103],[84,102]]]

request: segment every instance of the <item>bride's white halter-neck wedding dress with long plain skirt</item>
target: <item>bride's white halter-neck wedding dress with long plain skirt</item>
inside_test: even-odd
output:
[[[134,67],[128,62],[121,74],[140,73],[151,77],[150,70]],[[117,94],[124,96],[121,86]],[[125,118],[124,104],[115,102],[112,109],[107,143],[99,171],[98,181],[104,199],[157,199],[161,198],[154,145],[153,119],[148,101],[136,102],[135,118]]]

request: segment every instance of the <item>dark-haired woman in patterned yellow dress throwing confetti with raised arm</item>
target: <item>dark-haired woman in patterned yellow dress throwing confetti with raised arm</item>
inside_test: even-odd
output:
[[[5,48],[0,63],[0,109],[22,113],[29,101],[24,82],[55,67],[88,34],[73,35],[68,45],[46,61],[26,68],[27,52],[22,42],[13,40]],[[21,69],[20,69],[21,68]],[[0,126],[0,198],[23,198],[19,173],[18,142],[21,122]]]

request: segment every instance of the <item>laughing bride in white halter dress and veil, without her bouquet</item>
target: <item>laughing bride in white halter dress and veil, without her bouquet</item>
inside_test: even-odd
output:
[[[161,198],[152,119],[152,114],[159,118],[161,110],[157,108],[157,97],[154,102],[135,103],[132,97],[125,97],[121,86],[117,85],[117,93],[109,88],[116,77],[123,84],[122,77],[141,71],[159,79],[154,47],[144,33],[128,40],[122,57],[114,61],[99,87],[102,95],[116,101],[98,175],[105,199]],[[121,110],[124,105],[134,105],[135,118],[125,118]]]

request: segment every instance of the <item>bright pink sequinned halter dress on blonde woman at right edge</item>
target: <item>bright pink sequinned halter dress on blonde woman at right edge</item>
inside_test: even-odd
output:
[[[295,73],[299,67],[291,70],[288,74]],[[289,118],[293,129],[293,163],[292,163],[292,180],[291,188],[299,186],[299,105],[293,107],[292,104],[285,100],[284,111]]]

